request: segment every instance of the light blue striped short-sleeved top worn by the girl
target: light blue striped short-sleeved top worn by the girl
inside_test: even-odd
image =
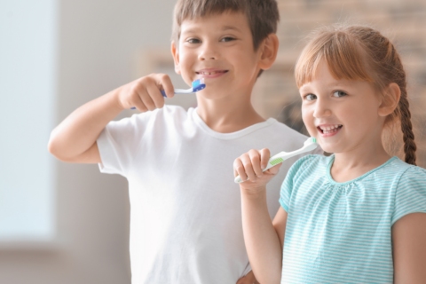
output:
[[[281,283],[391,283],[391,226],[426,213],[426,170],[397,157],[349,182],[330,176],[334,155],[307,155],[288,170]]]

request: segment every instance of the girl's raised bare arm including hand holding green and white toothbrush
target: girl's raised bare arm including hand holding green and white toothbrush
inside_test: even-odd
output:
[[[260,283],[280,283],[282,244],[287,213],[280,209],[272,220],[266,201],[266,184],[278,172],[275,166],[262,172],[269,160],[269,150],[250,150],[234,162],[235,176],[247,181],[240,184],[244,242],[250,265]]]

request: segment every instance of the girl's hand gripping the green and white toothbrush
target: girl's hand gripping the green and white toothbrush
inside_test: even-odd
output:
[[[270,157],[269,149],[264,148],[260,151],[250,150],[235,159],[233,162],[234,177],[240,175],[241,179],[244,180],[240,184],[242,190],[258,191],[278,173],[281,164],[262,171],[266,168]]]

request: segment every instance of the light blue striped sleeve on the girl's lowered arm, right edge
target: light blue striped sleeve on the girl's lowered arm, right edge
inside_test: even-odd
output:
[[[421,212],[426,213],[426,170],[410,167],[398,181],[392,225],[401,217]]]

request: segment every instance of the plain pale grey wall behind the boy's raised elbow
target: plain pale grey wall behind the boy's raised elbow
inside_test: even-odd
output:
[[[88,100],[135,79],[141,48],[168,48],[174,3],[59,1],[52,125]],[[0,248],[0,283],[130,283],[127,182],[101,175],[96,165],[55,162],[54,167],[58,242]]]

